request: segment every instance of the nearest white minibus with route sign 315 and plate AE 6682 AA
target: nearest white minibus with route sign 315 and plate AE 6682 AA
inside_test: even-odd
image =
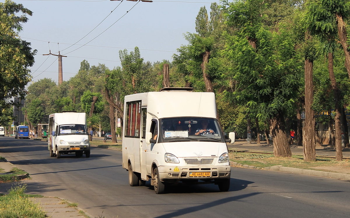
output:
[[[151,179],[156,194],[171,183],[215,183],[230,188],[231,167],[216,119],[215,95],[163,88],[125,96],[123,163],[131,186]]]

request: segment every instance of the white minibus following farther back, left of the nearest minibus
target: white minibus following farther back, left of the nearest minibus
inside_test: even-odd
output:
[[[90,131],[92,135],[92,131]],[[86,114],[67,111],[49,115],[48,149],[50,157],[62,154],[90,157],[89,134]]]

